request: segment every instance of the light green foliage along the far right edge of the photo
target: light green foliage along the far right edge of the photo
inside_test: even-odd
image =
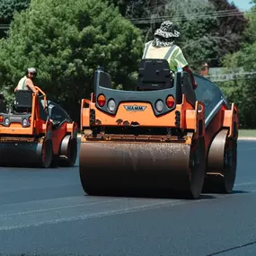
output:
[[[255,7],[253,7],[255,9]],[[240,122],[243,128],[256,128],[256,18],[248,15],[249,27],[245,34],[251,35],[250,42],[243,43],[243,48],[225,57],[225,73],[236,74],[237,78],[231,82],[219,84],[228,98],[235,102],[240,110]],[[249,73],[243,75],[243,73]]]

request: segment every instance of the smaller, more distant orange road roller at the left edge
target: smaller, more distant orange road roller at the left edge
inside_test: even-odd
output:
[[[0,166],[73,166],[77,124],[36,89],[17,91],[13,108],[0,112]]]

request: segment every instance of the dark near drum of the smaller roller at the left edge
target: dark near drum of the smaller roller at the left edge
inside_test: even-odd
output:
[[[52,162],[52,142],[5,142],[0,144],[1,166],[32,166],[49,168]]]

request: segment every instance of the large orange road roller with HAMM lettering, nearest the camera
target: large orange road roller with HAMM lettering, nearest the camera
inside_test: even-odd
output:
[[[95,71],[91,100],[81,105],[80,179],[89,195],[157,191],[198,199],[229,193],[236,173],[238,112],[221,90],[196,75],[143,59],[137,89],[111,89]]]

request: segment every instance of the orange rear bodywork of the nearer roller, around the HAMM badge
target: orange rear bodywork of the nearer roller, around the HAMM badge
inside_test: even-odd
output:
[[[144,111],[126,111],[125,106],[137,106]],[[90,112],[94,113],[94,120],[92,126],[92,118],[90,124]],[[179,117],[177,115],[179,113]],[[125,128],[128,126],[135,126],[141,128],[177,128],[175,124],[177,119],[180,119],[179,129],[190,130],[194,137],[205,137],[205,146],[208,148],[212,142],[213,137],[216,135],[221,128],[229,129],[228,137],[237,138],[238,129],[238,110],[234,103],[229,110],[225,104],[216,112],[215,117],[211,120],[207,128],[205,128],[205,105],[203,102],[196,102],[195,108],[187,102],[186,96],[182,95],[181,104],[176,104],[175,109],[171,112],[163,114],[159,117],[154,115],[152,105],[146,102],[121,102],[119,104],[117,113],[115,115],[110,115],[95,106],[95,96],[92,93],[91,100],[83,99],[81,104],[81,131],[84,131],[85,137],[87,139],[93,139],[93,128],[97,127],[122,127],[124,128],[124,133],[120,134],[118,138],[122,137],[125,139],[128,137],[125,133]],[[104,134],[106,139],[114,139],[117,136],[113,134]],[[102,133],[101,133],[102,137]],[[102,137],[102,138],[103,138]],[[137,135],[136,139],[145,136]],[[129,136],[129,139],[131,136]],[[135,137],[134,137],[135,138]],[[147,141],[150,137],[147,137]],[[152,137],[153,138],[153,137]],[[179,136],[165,137],[168,140],[173,140],[174,142],[185,142],[190,143],[190,140],[184,140]],[[83,138],[82,138],[83,139]],[[164,139],[163,139],[164,140]]]

